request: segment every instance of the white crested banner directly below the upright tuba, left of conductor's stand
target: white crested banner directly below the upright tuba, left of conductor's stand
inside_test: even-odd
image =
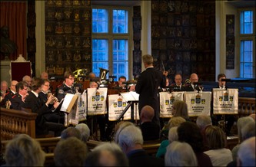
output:
[[[107,100],[108,88],[88,88],[88,116],[101,115],[107,113],[106,100]]]

